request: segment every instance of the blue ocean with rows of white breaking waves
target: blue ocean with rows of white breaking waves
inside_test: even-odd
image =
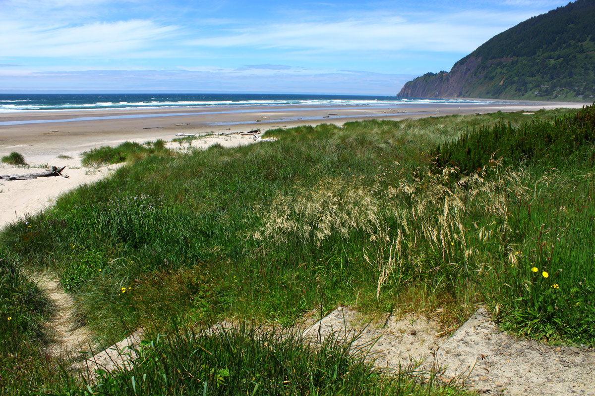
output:
[[[394,96],[297,94],[0,94],[0,113],[59,110],[220,106],[393,106],[491,104],[496,100],[418,99]]]

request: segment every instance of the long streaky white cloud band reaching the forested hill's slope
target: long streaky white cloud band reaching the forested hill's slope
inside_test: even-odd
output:
[[[309,49],[321,53],[350,50],[470,52],[494,34],[530,16],[459,12],[431,18],[421,15],[405,18],[375,13],[340,21],[259,25],[186,43],[198,47]]]

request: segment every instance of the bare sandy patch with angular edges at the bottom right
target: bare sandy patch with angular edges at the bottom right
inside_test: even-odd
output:
[[[419,363],[443,369],[444,382],[458,377],[469,389],[492,395],[595,395],[595,350],[552,347],[500,331],[485,309],[450,338],[433,319],[385,316],[362,326],[361,315],[339,307],[306,329],[309,337],[331,333],[359,335],[354,348],[367,346],[380,368]]]

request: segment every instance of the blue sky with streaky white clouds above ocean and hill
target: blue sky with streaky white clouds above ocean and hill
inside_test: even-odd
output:
[[[0,0],[0,92],[396,95],[558,0]]]

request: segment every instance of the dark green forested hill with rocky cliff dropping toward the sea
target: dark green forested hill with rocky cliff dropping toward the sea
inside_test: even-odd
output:
[[[577,0],[519,23],[399,97],[595,98],[595,0]]]

